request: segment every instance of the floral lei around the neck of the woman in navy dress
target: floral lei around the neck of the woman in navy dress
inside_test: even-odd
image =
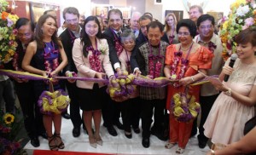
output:
[[[59,66],[59,60],[58,57],[55,58],[52,61],[52,65],[49,62],[49,58],[51,57],[51,54],[58,54],[59,50],[55,49],[55,43],[53,43],[53,41],[50,42],[52,49],[50,47],[47,47],[47,43],[45,43],[45,47],[44,47],[44,66],[45,66],[45,70],[46,72],[52,72],[55,71],[55,69]]]

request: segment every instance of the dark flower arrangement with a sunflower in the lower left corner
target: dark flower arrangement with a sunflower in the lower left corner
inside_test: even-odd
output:
[[[12,113],[0,111],[0,154],[19,154],[20,141],[15,141],[22,120]]]

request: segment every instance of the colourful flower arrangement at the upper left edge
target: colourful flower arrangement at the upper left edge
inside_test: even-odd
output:
[[[19,17],[16,14],[6,12],[7,6],[8,3],[5,0],[0,0],[0,63],[7,63],[12,60],[18,45],[15,42],[17,35],[15,23]]]

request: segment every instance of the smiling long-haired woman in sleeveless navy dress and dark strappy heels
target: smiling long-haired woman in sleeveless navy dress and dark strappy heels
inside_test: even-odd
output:
[[[44,14],[39,18],[35,33],[35,41],[28,44],[26,55],[22,62],[24,70],[45,77],[60,75],[61,70],[67,65],[67,56],[62,48],[61,42],[56,37],[56,28],[55,17],[49,14]],[[52,83],[53,89],[61,89],[60,81],[53,80]],[[39,98],[42,92],[51,89],[48,82],[35,81],[33,84],[36,99]],[[41,106],[39,103],[40,102],[38,102],[38,106]],[[63,109],[63,111],[65,111],[65,109]],[[44,114],[44,127],[42,128],[46,129],[49,149],[63,149],[65,146],[60,135],[61,114],[53,111],[44,111],[44,108],[41,112]],[[55,134],[52,132],[52,123],[54,123]]]

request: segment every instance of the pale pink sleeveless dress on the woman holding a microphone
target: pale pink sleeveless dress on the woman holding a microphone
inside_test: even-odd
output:
[[[229,64],[227,60],[226,64]],[[236,59],[235,71],[230,75],[225,86],[241,95],[249,95],[256,85],[256,66],[242,64]],[[228,145],[239,141],[243,136],[244,124],[254,116],[254,106],[245,106],[222,92],[215,100],[204,124],[204,134],[212,138],[213,143]]]

